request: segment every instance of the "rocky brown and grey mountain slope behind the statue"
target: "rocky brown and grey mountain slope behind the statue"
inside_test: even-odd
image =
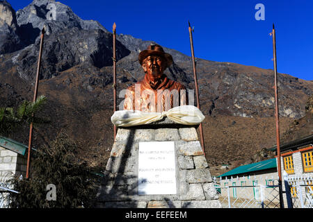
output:
[[[50,3],[56,7],[56,20],[47,19]],[[48,98],[43,114],[51,124],[35,130],[34,144],[45,144],[64,129],[81,144],[79,155],[101,167],[113,144],[113,62],[112,33],[99,22],[80,19],[55,1],[35,0],[17,12],[0,1],[0,106],[32,100],[42,28],[46,34],[39,94]],[[143,78],[138,53],[151,42],[118,35],[118,92]],[[166,74],[193,89],[191,58],[164,49],[174,58]],[[256,151],[275,144],[273,70],[197,60],[209,164],[254,161]],[[305,116],[313,82],[279,74],[278,87],[283,134],[294,119]],[[13,137],[27,144],[28,129]]]

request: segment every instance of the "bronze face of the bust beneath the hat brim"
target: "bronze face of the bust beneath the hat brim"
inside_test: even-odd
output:
[[[161,56],[151,55],[143,60],[143,71],[145,71],[150,78],[160,78],[165,69],[166,60]]]

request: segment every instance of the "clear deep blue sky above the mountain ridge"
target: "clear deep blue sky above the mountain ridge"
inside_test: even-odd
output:
[[[31,0],[8,0],[15,10]],[[191,56],[188,20],[195,27],[195,57],[273,69],[271,33],[275,23],[278,72],[313,80],[312,0],[61,0],[82,19],[94,19],[111,31],[153,40]],[[255,19],[255,5],[265,20]]]

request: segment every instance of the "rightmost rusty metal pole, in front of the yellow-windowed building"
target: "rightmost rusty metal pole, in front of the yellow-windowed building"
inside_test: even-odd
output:
[[[274,78],[275,78],[275,121],[276,121],[276,143],[277,143],[277,158],[278,158],[278,185],[280,193],[280,208],[284,208],[284,200],[282,197],[282,167],[280,161],[280,117],[278,110],[278,79],[277,79],[277,60],[276,60],[276,37],[275,27],[273,24],[273,60],[274,60]]]

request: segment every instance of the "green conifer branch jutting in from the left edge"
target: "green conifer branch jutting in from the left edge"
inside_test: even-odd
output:
[[[39,96],[35,102],[24,101],[16,111],[13,108],[0,108],[0,136],[8,137],[26,124],[36,126],[48,123],[47,119],[35,115],[42,110],[46,101],[45,96]]]

